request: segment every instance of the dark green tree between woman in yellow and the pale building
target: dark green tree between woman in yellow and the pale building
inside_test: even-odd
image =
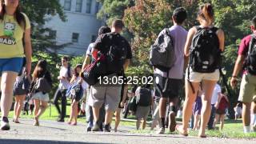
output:
[[[66,15],[58,0],[21,0],[20,5],[22,12],[30,18],[33,67],[39,59],[46,59],[48,69],[53,76],[54,88],[56,88],[58,83],[58,69],[56,66],[58,62],[60,62],[60,56],[58,56],[55,51],[62,49],[66,44],[57,45],[56,40],[48,35],[51,29],[45,27],[45,23],[55,15],[58,15],[58,17],[65,22]],[[53,95],[53,92],[54,91],[52,91],[50,95]]]

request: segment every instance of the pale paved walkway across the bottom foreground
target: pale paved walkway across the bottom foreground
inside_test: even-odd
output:
[[[86,132],[85,124],[69,126],[66,123],[40,121],[40,126],[33,126],[33,120],[21,119],[21,124],[10,122],[11,130],[0,131],[0,144],[50,144],[50,143],[135,143],[135,144],[256,144],[255,140],[227,138],[184,138],[180,135],[166,134],[130,134],[133,127],[122,126],[120,132]]]

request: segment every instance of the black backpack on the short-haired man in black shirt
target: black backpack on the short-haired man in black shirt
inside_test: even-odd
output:
[[[126,60],[127,47],[126,40],[120,34],[108,33],[109,46],[106,52],[106,72],[107,74],[120,73]]]

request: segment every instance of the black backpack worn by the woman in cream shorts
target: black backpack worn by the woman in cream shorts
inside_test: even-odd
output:
[[[190,47],[190,67],[194,72],[213,73],[221,63],[221,50],[216,31],[217,27],[201,28],[194,34]]]

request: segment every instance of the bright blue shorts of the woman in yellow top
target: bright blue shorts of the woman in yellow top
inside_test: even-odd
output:
[[[0,58],[0,77],[4,71],[20,73],[23,60],[23,58]]]

